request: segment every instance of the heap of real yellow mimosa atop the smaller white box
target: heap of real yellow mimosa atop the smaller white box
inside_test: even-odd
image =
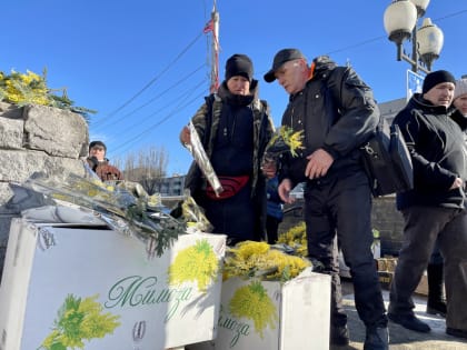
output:
[[[309,261],[271,249],[266,242],[245,241],[227,251],[223,279],[238,276],[288,281],[309,266]]]

